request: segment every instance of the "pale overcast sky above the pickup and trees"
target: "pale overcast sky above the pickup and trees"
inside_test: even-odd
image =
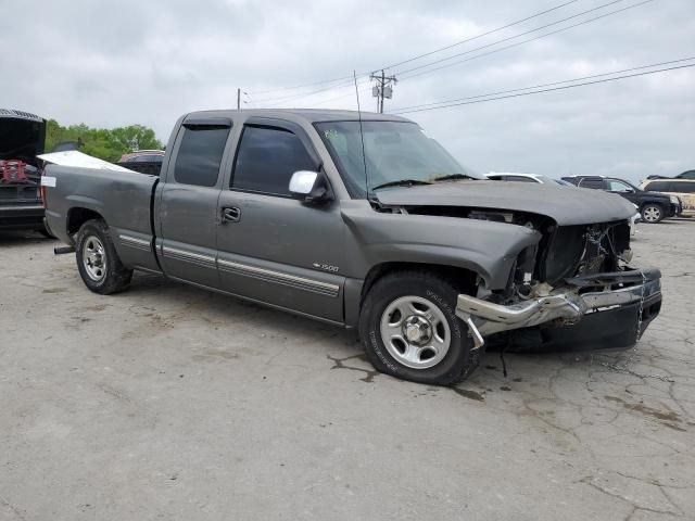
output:
[[[641,0],[618,1],[473,51],[609,1],[579,0],[394,67],[388,73],[403,78],[387,111],[695,56],[695,0],[654,0],[455,66],[413,78],[407,76],[415,72],[404,73],[456,53],[471,51],[458,60],[472,58]],[[249,107],[355,109],[354,86],[341,82],[321,92],[315,91],[326,85],[263,92],[345,77],[353,69],[359,75],[560,3],[0,0],[0,106],[64,125],[139,123],[163,141],[188,111],[235,107],[237,87],[248,92]],[[369,84],[361,81],[363,110],[375,110]],[[637,180],[695,168],[695,67],[408,117],[479,171]]]

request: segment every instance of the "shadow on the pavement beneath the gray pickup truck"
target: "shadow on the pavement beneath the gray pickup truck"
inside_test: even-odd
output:
[[[277,344],[278,351],[283,348],[283,343],[292,343],[294,339],[302,338],[304,340],[299,348],[314,352],[307,356],[324,357],[330,364],[329,370],[350,371],[361,382],[374,384],[379,379],[391,378],[376,371],[369,364],[356,330],[326,325],[156,275],[137,274],[128,291],[117,297],[132,298],[136,308],[150,316],[151,323],[148,326],[152,329],[170,328],[173,323],[180,321],[180,317],[194,310],[198,319],[215,329],[243,327],[257,331],[268,342]],[[166,300],[167,310],[161,309],[154,300]],[[526,353],[501,353],[498,348],[491,347],[471,378],[452,389],[465,398],[484,402],[485,394],[493,390],[513,391],[516,383],[549,378],[560,367],[585,365],[589,370],[593,357],[594,353],[591,352],[567,353],[539,348]],[[410,385],[418,386],[415,383]]]

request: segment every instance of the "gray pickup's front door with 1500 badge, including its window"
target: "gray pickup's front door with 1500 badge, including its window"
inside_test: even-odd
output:
[[[344,225],[338,201],[306,205],[289,193],[318,158],[302,128],[252,118],[222,191],[217,232],[222,287],[230,293],[342,322]]]

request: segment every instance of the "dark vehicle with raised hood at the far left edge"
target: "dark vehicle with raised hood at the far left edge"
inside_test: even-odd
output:
[[[0,109],[0,229],[47,234],[40,199],[39,165],[46,120],[28,112]]]

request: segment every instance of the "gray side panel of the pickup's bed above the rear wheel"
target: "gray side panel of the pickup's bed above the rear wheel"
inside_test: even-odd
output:
[[[74,244],[71,218],[83,209],[96,212],[109,225],[124,265],[157,270],[153,249],[152,193],[159,179],[137,173],[50,165],[46,176],[46,217],[59,239]]]

